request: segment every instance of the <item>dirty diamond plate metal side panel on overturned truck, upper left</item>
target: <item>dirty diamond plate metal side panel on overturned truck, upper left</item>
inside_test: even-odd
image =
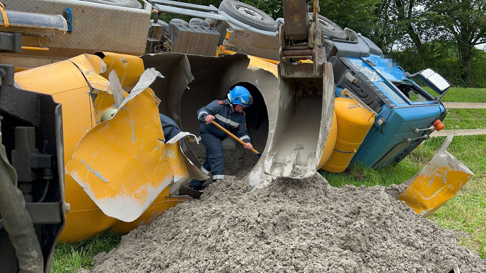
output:
[[[23,50],[11,56],[45,56],[66,59],[94,51],[141,55],[145,51],[150,10],[117,7],[79,0],[2,0],[6,10],[63,14],[72,9],[72,33],[56,32],[51,40],[41,38],[49,51]],[[36,46],[35,37],[23,37],[23,46]]]

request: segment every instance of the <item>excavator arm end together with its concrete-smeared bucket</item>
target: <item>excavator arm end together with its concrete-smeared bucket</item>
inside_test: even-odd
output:
[[[279,109],[269,137],[263,171],[271,176],[312,176],[323,154],[334,110],[332,66],[322,47],[324,29],[317,23],[319,1],[282,0],[278,65]],[[311,60],[312,62],[301,62]]]

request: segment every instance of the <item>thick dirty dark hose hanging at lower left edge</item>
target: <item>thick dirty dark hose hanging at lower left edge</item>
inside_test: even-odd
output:
[[[15,248],[20,273],[44,272],[44,260],[34,224],[25,208],[22,192],[17,188],[17,173],[8,162],[3,144],[0,144],[0,214],[4,229]]]

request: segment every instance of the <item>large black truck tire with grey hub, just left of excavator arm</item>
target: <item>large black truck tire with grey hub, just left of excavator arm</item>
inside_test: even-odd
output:
[[[221,11],[251,27],[264,31],[277,31],[277,22],[261,10],[235,0],[223,0],[219,5]]]

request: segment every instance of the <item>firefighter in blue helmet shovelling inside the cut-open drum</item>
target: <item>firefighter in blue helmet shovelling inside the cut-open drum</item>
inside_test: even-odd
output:
[[[225,157],[221,143],[228,135],[216,127],[211,121],[215,121],[226,130],[238,136],[246,143],[246,149],[252,149],[250,136],[246,131],[246,118],[243,109],[253,103],[253,98],[248,89],[243,86],[235,86],[224,101],[212,101],[205,107],[197,110],[197,118],[201,122],[199,133],[206,147],[206,162],[201,171],[206,174],[211,172],[213,182],[225,177]],[[209,124],[207,124],[209,123]],[[201,190],[204,181],[193,179],[189,187]]]

